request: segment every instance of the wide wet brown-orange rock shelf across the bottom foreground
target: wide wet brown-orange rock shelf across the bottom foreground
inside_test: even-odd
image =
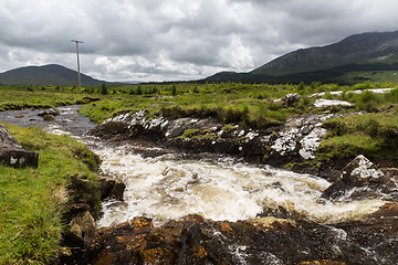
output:
[[[214,222],[190,215],[155,226],[150,219],[135,218],[102,229],[67,264],[394,264],[396,216],[397,206],[386,205],[364,220],[336,225],[272,216]]]

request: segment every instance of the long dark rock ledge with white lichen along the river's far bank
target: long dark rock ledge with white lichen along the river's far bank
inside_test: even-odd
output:
[[[145,112],[137,112],[108,119],[92,134],[114,140],[143,138],[190,152],[265,158],[268,163],[280,166],[292,159],[314,159],[326,134],[321,125],[328,117],[331,115],[295,116],[283,126],[254,130],[223,125],[214,118],[148,119]]]

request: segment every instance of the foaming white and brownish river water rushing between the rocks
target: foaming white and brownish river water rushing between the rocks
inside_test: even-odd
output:
[[[321,200],[328,181],[268,166],[255,166],[224,157],[203,155],[200,159],[135,142],[108,145],[85,134],[95,126],[81,116],[77,106],[60,107],[54,121],[42,121],[38,112],[0,113],[0,121],[41,126],[53,134],[67,134],[84,141],[101,156],[101,171],[122,179],[125,201],[105,201],[100,226],[109,226],[134,216],[161,223],[187,214],[214,221],[247,220],[270,212],[284,212],[316,222],[332,223],[360,218],[376,211],[383,200],[329,202]],[[22,118],[15,118],[22,115]],[[160,153],[147,156],[148,153]]]

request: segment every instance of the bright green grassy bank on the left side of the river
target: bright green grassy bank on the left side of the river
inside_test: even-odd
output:
[[[66,187],[76,176],[97,183],[97,159],[70,137],[7,127],[24,148],[39,152],[39,168],[0,165],[0,264],[49,264],[56,261],[73,200]]]

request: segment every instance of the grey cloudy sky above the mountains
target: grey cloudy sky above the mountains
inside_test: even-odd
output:
[[[61,64],[106,81],[248,72],[287,52],[398,30],[397,0],[0,0],[0,72]]]

